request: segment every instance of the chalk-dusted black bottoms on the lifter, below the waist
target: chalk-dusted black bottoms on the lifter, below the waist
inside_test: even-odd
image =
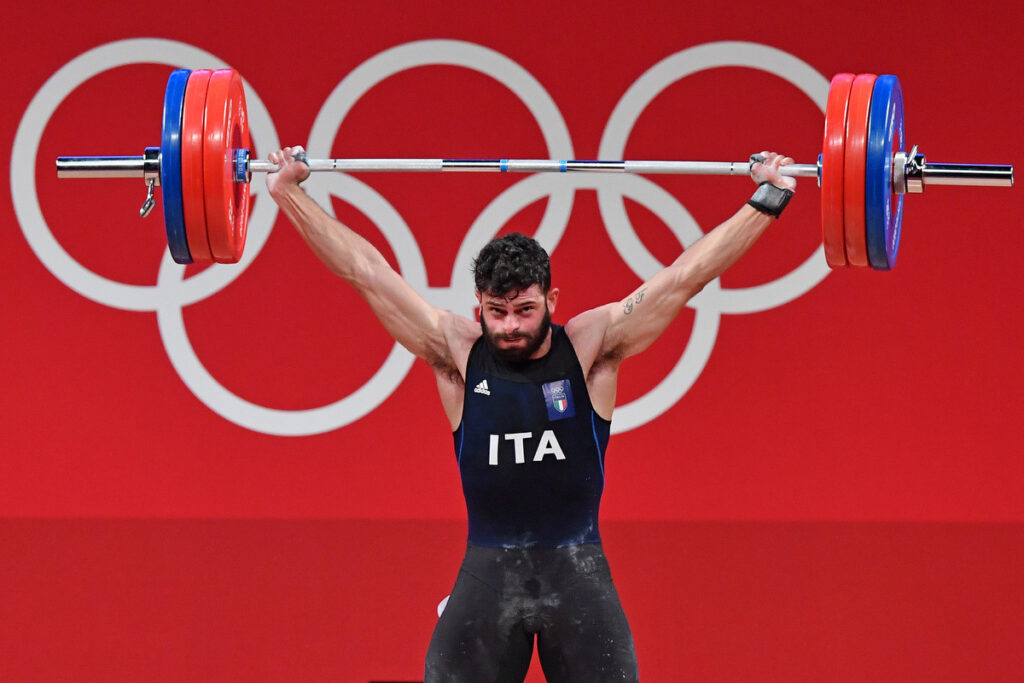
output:
[[[469,546],[427,650],[425,683],[637,681],[633,635],[600,544]]]

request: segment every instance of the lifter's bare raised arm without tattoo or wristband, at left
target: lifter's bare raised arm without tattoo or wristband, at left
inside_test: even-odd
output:
[[[435,369],[464,373],[461,356],[469,354],[475,326],[427,303],[373,245],[306,195],[299,183],[308,177],[309,168],[292,157],[301,151],[286,147],[270,155],[270,161],[281,167],[267,175],[270,196],[313,253],[355,288],[399,344]]]

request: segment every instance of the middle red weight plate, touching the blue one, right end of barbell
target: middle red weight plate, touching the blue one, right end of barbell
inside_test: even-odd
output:
[[[853,80],[846,121],[846,159],[843,177],[843,232],[850,265],[866,266],[867,227],[864,223],[864,182],[867,167],[867,117],[871,110],[874,74]]]

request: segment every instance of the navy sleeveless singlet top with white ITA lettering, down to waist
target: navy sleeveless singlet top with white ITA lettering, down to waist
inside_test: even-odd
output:
[[[466,368],[453,434],[469,543],[559,548],[599,543],[598,508],[611,423],[594,412],[561,326],[542,358],[507,362],[480,337]]]

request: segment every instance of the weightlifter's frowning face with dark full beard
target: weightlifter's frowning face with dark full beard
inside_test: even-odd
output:
[[[480,327],[483,336],[500,356],[520,362],[543,355],[542,346],[551,329],[558,290],[545,296],[540,285],[514,293],[513,298],[477,293],[480,301]]]

